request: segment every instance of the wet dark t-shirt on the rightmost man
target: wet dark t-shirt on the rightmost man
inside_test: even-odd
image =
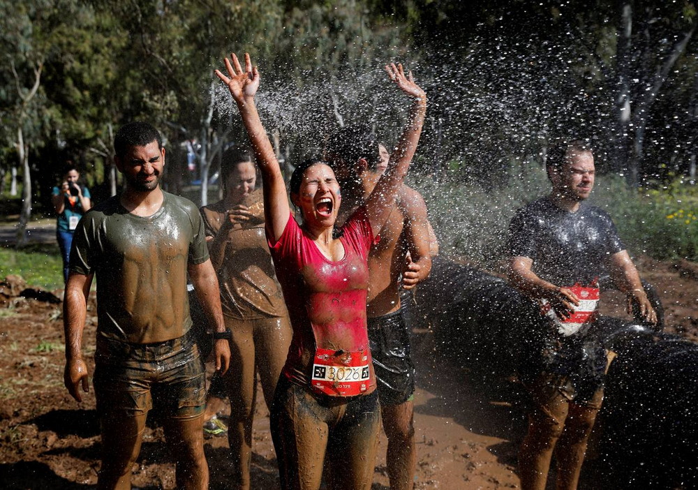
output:
[[[509,225],[512,257],[533,260],[533,272],[558,286],[588,285],[606,271],[608,259],[625,250],[611,217],[582,202],[570,212],[549,198],[517,211]]]

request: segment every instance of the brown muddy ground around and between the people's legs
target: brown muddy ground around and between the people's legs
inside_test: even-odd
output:
[[[698,340],[698,267],[688,262],[638,260],[644,279],[660,293],[667,329]],[[63,386],[64,348],[61,304],[0,292],[0,487],[3,489],[83,489],[96,483],[100,441],[94,394],[78,404]],[[61,291],[54,295],[60,297]],[[615,299],[605,313],[622,315]],[[96,316],[91,302],[85,350],[94,352]],[[525,417],[515,403],[516,385],[483,387],[440,359],[433,332],[413,334],[419,378],[415,396],[417,489],[516,489],[517,446]],[[91,367],[91,366],[90,366]],[[261,392],[261,390],[260,390]],[[255,419],[253,489],[278,488],[267,409],[259,397]],[[513,403],[512,403],[513,402]],[[380,438],[373,489],[387,489],[385,436]],[[211,489],[227,487],[227,439],[209,438],[206,454]],[[584,489],[602,489],[593,455]],[[133,484],[142,489],[174,488],[174,466],[162,429],[151,417]]]

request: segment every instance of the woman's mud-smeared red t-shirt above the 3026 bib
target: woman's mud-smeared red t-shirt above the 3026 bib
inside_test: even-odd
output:
[[[366,209],[359,207],[342,230],[339,239],[344,257],[336,262],[322,254],[291,215],[278,242],[267,235],[293,327],[283,373],[298,385],[313,387],[311,371],[317,349],[369,351],[366,289],[373,232]],[[370,354],[368,364],[366,394],[376,389]]]

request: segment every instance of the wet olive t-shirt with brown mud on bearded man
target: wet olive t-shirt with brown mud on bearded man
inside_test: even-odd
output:
[[[95,274],[97,332],[128,343],[177,339],[191,327],[188,264],[209,258],[204,224],[193,202],[163,192],[144,218],[119,196],[90,209],[77,225],[70,272]]]

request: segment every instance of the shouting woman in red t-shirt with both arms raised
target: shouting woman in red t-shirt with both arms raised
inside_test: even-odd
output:
[[[228,86],[262,171],[265,230],[293,329],[288,358],[276,386],[271,429],[283,489],[317,490],[323,463],[330,489],[371,487],[380,408],[366,334],[366,258],[394,206],[415,154],[426,95],[400,64],[385,67],[413,98],[408,124],[366,205],[334,232],[341,193],[328,163],[305,161],[293,172],[293,218],[274,149],[254,96],[257,68],[245,54],[225,59]]]

